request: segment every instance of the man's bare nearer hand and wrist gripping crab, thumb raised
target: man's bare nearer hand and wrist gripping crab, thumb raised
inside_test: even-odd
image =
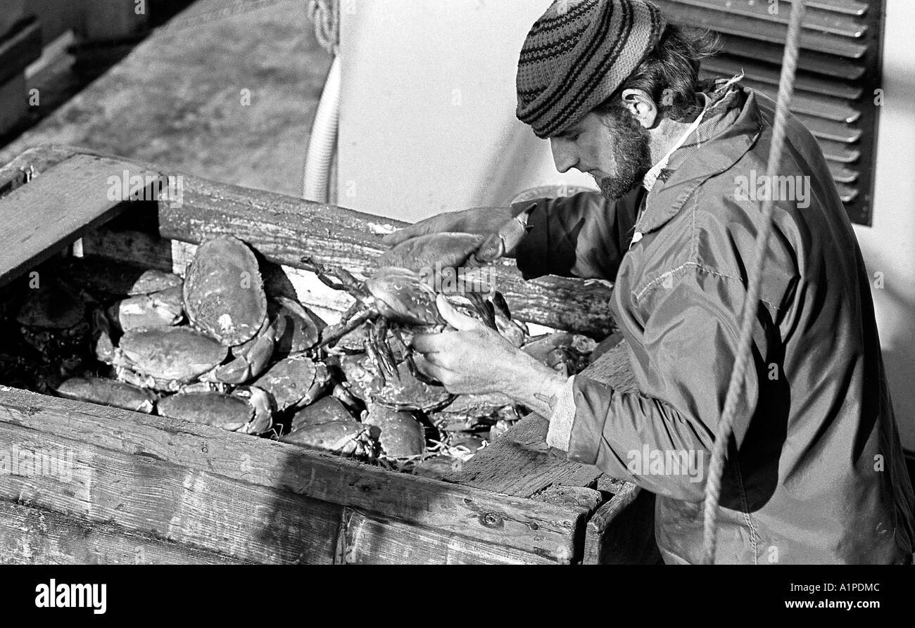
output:
[[[454,394],[501,392],[546,419],[565,378],[495,330],[457,312],[439,295],[438,311],[456,331],[414,335],[416,367]]]

